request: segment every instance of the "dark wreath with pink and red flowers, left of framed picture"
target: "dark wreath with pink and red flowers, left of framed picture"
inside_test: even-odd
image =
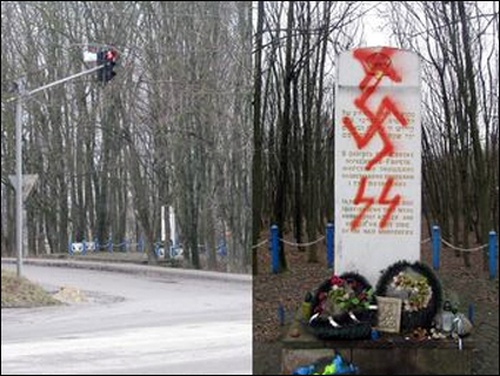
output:
[[[364,277],[357,273],[333,276],[313,295],[309,328],[319,339],[369,338],[376,312],[368,306],[375,304],[372,287]]]

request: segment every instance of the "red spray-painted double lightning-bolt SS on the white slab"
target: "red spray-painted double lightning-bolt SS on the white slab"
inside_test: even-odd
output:
[[[367,183],[368,183],[368,177],[362,176],[358,192],[356,193],[356,197],[354,198],[354,204],[355,205],[365,204],[365,207],[361,210],[358,216],[354,218],[354,220],[351,222],[351,231],[359,228],[366,212],[375,203],[375,198],[365,197],[365,190]],[[393,184],[394,184],[394,178],[390,176],[389,178],[387,178],[384,184],[384,188],[382,189],[382,193],[380,194],[380,197],[378,198],[377,201],[379,204],[389,205],[387,212],[380,220],[381,229],[387,226],[387,223],[389,223],[389,219],[391,218],[392,213],[394,213],[396,207],[401,203],[401,195],[395,195],[394,197],[389,198],[389,191],[391,190]]]

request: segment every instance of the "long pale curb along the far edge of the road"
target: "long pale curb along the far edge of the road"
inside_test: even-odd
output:
[[[2,263],[15,264],[17,260],[11,257],[2,257]],[[187,270],[163,266],[138,265],[121,262],[93,262],[76,260],[48,260],[24,259],[23,264],[55,266],[76,269],[104,270],[121,273],[142,274],[155,277],[180,277],[205,280],[218,280],[225,282],[251,283],[252,276],[246,274],[210,272],[206,270]]]

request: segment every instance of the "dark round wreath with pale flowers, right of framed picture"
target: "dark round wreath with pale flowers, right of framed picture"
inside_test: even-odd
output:
[[[430,328],[442,304],[441,283],[427,265],[418,261],[398,261],[389,266],[383,271],[375,294],[403,300],[403,333],[417,327]]]

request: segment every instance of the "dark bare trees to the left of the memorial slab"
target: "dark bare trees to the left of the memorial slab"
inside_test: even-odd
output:
[[[273,210],[264,209],[261,216],[278,225],[280,237],[292,232],[294,240],[302,243],[305,230],[313,242],[324,233],[333,212],[329,129],[335,54],[356,40],[362,7],[327,1],[265,3],[262,9],[260,144],[267,157],[267,164],[261,166],[262,190],[267,193],[262,208]],[[256,224],[260,225],[254,234],[268,223],[254,218]],[[313,244],[308,258],[315,262],[317,257]],[[284,246],[280,263],[286,269]]]

